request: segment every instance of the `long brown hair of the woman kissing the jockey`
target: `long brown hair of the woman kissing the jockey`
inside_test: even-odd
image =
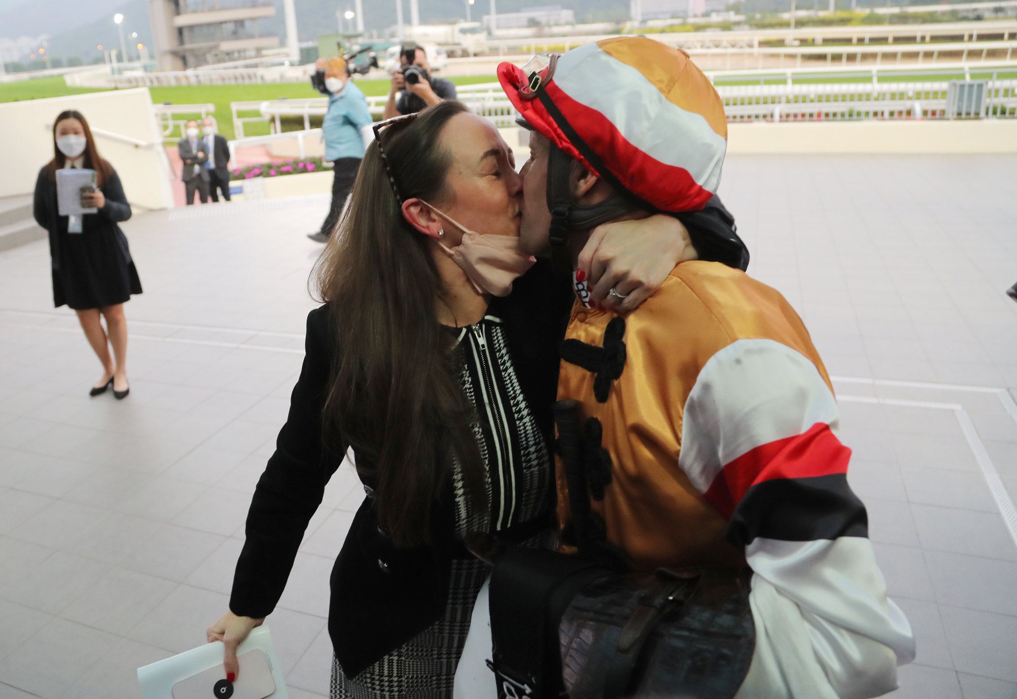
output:
[[[452,155],[440,135],[465,111],[441,102],[381,132],[404,197],[447,200]],[[357,468],[374,483],[378,524],[394,543],[431,541],[432,506],[453,459],[475,501],[482,463],[474,413],[457,380],[455,341],[434,311],[441,277],[424,236],[403,218],[376,142],[313,280],[338,331],[322,416],[326,445],[353,447]]]

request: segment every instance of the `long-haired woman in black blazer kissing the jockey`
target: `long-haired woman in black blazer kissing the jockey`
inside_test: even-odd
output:
[[[325,305],[308,316],[230,611],[207,638],[235,677],[237,645],[275,607],[352,447],[367,497],[332,575],[332,696],[430,699],[452,694],[487,575],[463,536],[539,545],[550,530],[556,346],[574,296],[546,263],[515,279],[533,265],[518,246],[521,180],[488,122],[442,102],[376,129],[317,269]],[[643,256],[659,247],[643,239]]]

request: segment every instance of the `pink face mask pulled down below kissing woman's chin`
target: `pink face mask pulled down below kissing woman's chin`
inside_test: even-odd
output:
[[[537,261],[533,255],[523,252],[518,236],[480,235],[423,202],[463,231],[463,242],[456,247],[450,249],[440,242],[438,245],[463,269],[478,293],[507,296],[512,283]]]

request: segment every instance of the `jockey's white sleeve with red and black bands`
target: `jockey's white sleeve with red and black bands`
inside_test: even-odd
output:
[[[757,647],[738,699],[880,696],[914,658],[838,427],[816,364],[773,340],[717,352],[685,403],[679,465],[755,573]]]

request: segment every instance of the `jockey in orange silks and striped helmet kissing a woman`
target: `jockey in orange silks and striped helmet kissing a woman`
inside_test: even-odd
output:
[[[634,571],[752,569],[756,648],[738,699],[894,690],[913,635],[887,597],[833,388],[790,304],[701,260],[626,315],[584,302],[578,255],[594,226],[696,211],[716,192],[727,121],[713,85],[683,52],[636,37],[502,63],[498,78],[531,129],[523,247],[549,239],[576,282],[558,400],[579,401],[607,456],[590,476],[604,544]],[[560,460],[557,471],[570,552]]]

